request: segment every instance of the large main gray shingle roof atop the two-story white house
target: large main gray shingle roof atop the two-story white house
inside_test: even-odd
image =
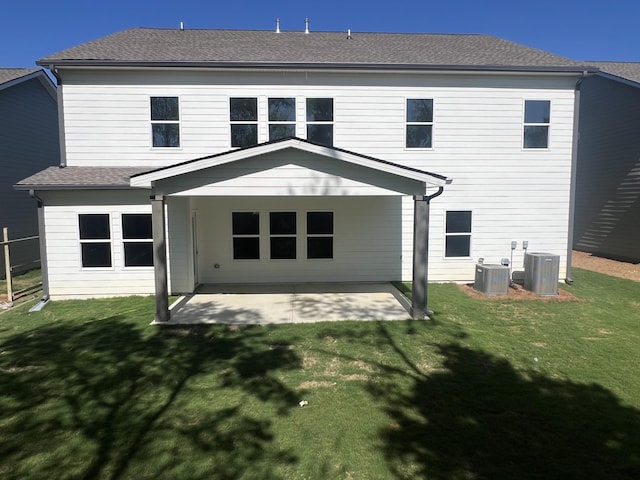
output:
[[[351,66],[582,70],[581,64],[489,35],[135,28],[39,65]]]

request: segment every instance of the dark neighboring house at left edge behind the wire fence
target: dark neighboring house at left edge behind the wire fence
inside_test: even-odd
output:
[[[0,229],[7,227],[10,239],[38,235],[35,202],[13,185],[60,161],[56,98],[44,70],[0,68]],[[39,266],[37,239],[13,243],[10,249],[16,272]]]

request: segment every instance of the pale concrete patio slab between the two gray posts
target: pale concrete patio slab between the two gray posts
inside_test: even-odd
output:
[[[171,307],[170,324],[269,325],[406,320],[409,302],[389,283],[205,285]]]

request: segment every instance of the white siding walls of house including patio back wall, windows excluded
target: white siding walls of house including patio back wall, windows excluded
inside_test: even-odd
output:
[[[518,242],[513,257],[516,269],[522,265],[522,241],[527,240],[529,251],[560,255],[560,276],[564,275],[576,81],[573,76],[68,70],[63,72],[63,79],[70,166],[153,169],[230,150],[230,97],[258,98],[260,142],[268,139],[267,99],[295,97],[295,131],[304,138],[305,99],[333,98],[336,147],[453,178],[453,184],[431,204],[430,280],[472,281],[477,259],[483,257],[487,263],[496,263],[510,257],[512,240]],[[179,148],[151,148],[151,96],[179,97]],[[433,99],[432,148],[405,147],[408,98]],[[525,100],[551,102],[547,149],[523,149]],[[197,196],[207,193],[203,191],[192,192],[196,195],[192,197],[169,198],[169,273],[174,293],[193,288],[193,239],[189,233],[192,211],[197,212],[200,228],[197,262],[201,282],[411,279],[411,197],[272,197],[268,195],[278,190],[281,177],[272,171],[261,176],[260,181],[265,189],[260,195],[265,196]],[[238,179],[235,187],[240,191],[255,188],[255,183]],[[279,191],[282,192],[281,186]],[[149,191],[131,195],[47,194],[52,296],[153,291],[152,270],[127,272],[124,277],[118,274],[122,264],[117,260],[118,217],[122,212],[149,211],[148,195]],[[80,268],[78,204],[86,211],[111,214],[115,259],[111,269]],[[232,210],[266,213],[272,208],[284,208],[302,215],[320,204],[337,212],[335,245],[344,257],[336,257],[331,268],[322,261],[300,260],[295,266],[268,260],[230,262]],[[472,212],[468,257],[445,257],[445,218],[446,212],[452,210]],[[214,267],[216,263],[220,268]]]

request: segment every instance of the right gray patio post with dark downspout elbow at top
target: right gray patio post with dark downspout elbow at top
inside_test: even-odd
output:
[[[427,308],[429,282],[429,202],[441,195],[440,187],[431,196],[413,197],[413,286],[411,291],[411,318],[432,317]]]

